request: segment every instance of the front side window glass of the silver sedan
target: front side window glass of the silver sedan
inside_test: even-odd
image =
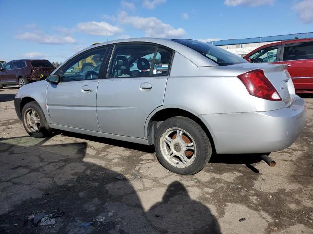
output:
[[[90,50],[69,61],[62,68],[61,82],[98,79],[107,49],[108,47],[101,47]]]

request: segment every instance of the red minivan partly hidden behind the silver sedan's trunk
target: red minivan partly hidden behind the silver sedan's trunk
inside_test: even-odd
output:
[[[313,39],[295,39],[261,46],[243,57],[249,62],[288,64],[296,93],[313,93]]]

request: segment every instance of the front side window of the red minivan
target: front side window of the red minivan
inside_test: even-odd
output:
[[[278,46],[270,46],[258,50],[249,56],[251,62],[262,63],[262,62],[276,62],[277,61]]]

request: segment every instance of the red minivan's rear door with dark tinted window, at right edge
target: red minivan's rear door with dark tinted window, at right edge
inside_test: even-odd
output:
[[[279,63],[288,64],[296,90],[313,89],[313,41],[285,44]]]

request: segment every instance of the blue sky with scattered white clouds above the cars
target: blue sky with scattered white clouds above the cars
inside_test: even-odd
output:
[[[313,0],[0,0],[0,59],[63,62],[127,37],[238,39],[313,31]]]

